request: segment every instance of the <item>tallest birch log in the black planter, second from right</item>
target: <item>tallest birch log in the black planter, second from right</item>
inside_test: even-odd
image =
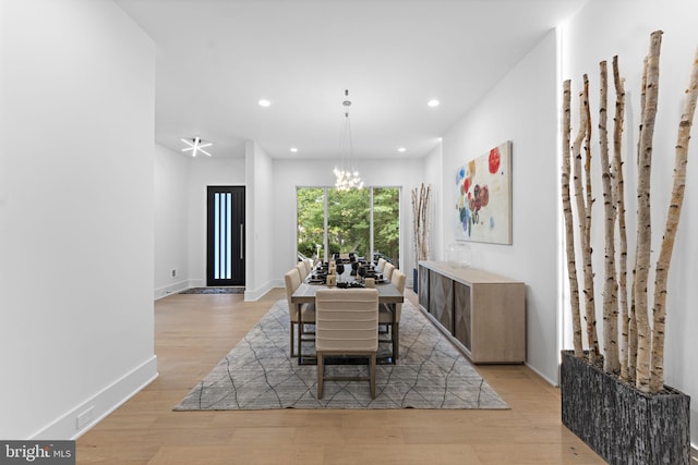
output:
[[[637,317],[637,372],[636,387],[642,392],[650,391],[651,332],[648,315],[648,277],[652,225],[650,215],[650,173],[652,169],[652,137],[659,98],[659,58],[662,32],[650,36],[650,51],[647,57],[647,97],[640,131],[637,182],[637,269],[635,285],[635,308]]]

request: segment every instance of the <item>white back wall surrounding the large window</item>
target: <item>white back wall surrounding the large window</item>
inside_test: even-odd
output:
[[[337,160],[274,160],[274,277],[284,286],[284,273],[296,265],[296,188],[298,186],[334,186],[333,169]],[[400,194],[400,267],[411,279],[413,252],[411,243],[411,189],[422,182],[423,159],[357,160],[366,186],[401,187]]]

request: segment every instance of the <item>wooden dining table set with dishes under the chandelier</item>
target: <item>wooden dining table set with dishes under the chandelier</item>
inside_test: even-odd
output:
[[[301,352],[301,344],[303,342],[303,313],[300,310],[301,306],[303,304],[314,304],[315,303],[315,293],[317,292],[318,289],[329,289],[328,285],[326,284],[315,284],[315,283],[311,283],[310,282],[310,274],[309,278],[306,278],[299,286],[298,289],[293,292],[293,294],[291,295],[291,303],[294,304],[298,308],[298,364],[299,365],[315,365],[317,363],[315,356],[303,356],[302,352]],[[342,278],[345,279],[345,282],[347,280],[352,280],[352,278],[347,278],[348,273],[342,274]],[[375,283],[375,290],[378,291],[378,304],[385,304],[387,305],[392,311],[392,318],[393,318],[393,325],[395,325],[395,317],[396,317],[396,311],[395,311],[395,304],[401,304],[402,302],[405,302],[405,296],[402,295],[402,293],[394,285],[392,284],[389,281],[386,282],[376,282]],[[315,321],[308,321],[309,323],[312,322],[313,325],[315,323]],[[395,326],[393,326],[392,328],[395,328]],[[382,364],[395,364],[395,356],[393,354],[397,354],[397,347],[395,346],[397,344],[397,341],[395,340],[395,338],[393,338],[393,350],[392,350],[392,355],[389,357],[383,357],[381,359],[378,359],[378,363]]]

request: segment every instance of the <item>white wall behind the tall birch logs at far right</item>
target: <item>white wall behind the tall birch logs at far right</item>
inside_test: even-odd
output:
[[[649,48],[649,35],[652,30],[662,29],[662,56],[659,85],[659,108],[653,140],[652,160],[652,266],[657,261],[663,225],[673,182],[674,146],[678,120],[683,109],[684,91],[688,85],[690,66],[696,47],[698,47],[698,28],[694,19],[698,17],[698,2],[690,0],[673,0],[662,2],[661,8],[655,2],[616,1],[607,2],[594,0],[590,2],[566,27],[565,34],[565,65],[564,78],[573,79],[573,95],[577,94],[583,73],[589,74],[591,87],[591,108],[597,109],[599,93],[599,62],[611,60],[618,56],[621,72],[626,78],[626,142],[625,142],[625,180],[628,221],[629,264],[634,260],[636,203],[634,167],[636,144],[640,121],[639,97],[641,86],[642,60]],[[593,34],[589,34],[593,30]],[[610,96],[614,96],[610,91]],[[613,108],[612,106],[610,107]],[[593,111],[593,110],[592,110]],[[575,111],[573,111],[575,114]],[[592,113],[592,118],[597,117]],[[610,111],[610,118],[612,111]],[[598,118],[595,118],[598,121]],[[611,122],[610,122],[611,123]],[[698,243],[691,231],[698,230],[698,124],[694,123],[693,138],[689,145],[687,185],[682,210],[678,234],[674,248],[672,266],[669,277],[666,343],[664,354],[665,382],[694,399],[698,396],[698,371],[694,354],[698,353],[698,313],[695,302],[698,301],[698,286],[694,278],[698,274]],[[594,124],[595,127],[595,124]],[[594,142],[593,147],[598,147]],[[598,155],[598,149],[597,149]],[[600,178],[598,157],[592,169]],[[601,186],[594,186],[597,198],[601,196]],[[594,217],[601,218],[602,205],[597,201]],[[602,303],[602,259],[603,230],[597,220],[593,230],[594,246],[599,250],[595,256],[597,270],[595,301],[597,309],[601,310]],[[631,267],[631,265],[630,265]],[[653,276],[650,277],[653,283]],[[650,287],[650,298],[651,298]],[[601,330],[601,314],[598,315],[598,327]],[[566,331],[566,336],[569,340]],[[602,333],[599,339],[602,341]],[[568,342],[567,347],[571,347]],[[698,424],[698,408],[691,405],[691,423]],[[698,442],[698,428],[693,428],[691,441]]]

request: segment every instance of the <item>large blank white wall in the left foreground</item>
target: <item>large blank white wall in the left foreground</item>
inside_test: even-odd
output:
[[[157,376],[155,48],[111,1],[1,16],[0,438],[70,439]]]

